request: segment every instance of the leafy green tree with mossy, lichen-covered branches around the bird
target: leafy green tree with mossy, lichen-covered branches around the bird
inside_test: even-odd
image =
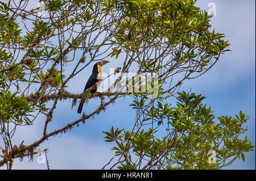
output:
[[[230,51],[223,33],[210,25],[206,11],[195,0],[40,0],[0,2],[0,166],[11,169],[14,158],[35,154],[49,137],[106,110],[123,96],[132,96],[134,129],[112,129],[106,141],[114,141],[119,169],[220,169],[253,149],[240,135],[248,119],[220,116],[217,122],[202,95],[180,92],[185,80],[206,73]],[[32,9],[31,7],[34,7]],[[115,60],[118,75],[105,92],[81,94],[68,91],[67,83],[96,61]],[[148,81],[156,96],[142,91],[133,79],[131,91],[118,91],[129,72],[157,73]],[[108,78],[108,77],[106,77]],[[140,90],[134,91],[139,82]],[[115,87],[115,89],[112,89]],[[167,102],[177,97],[176,106]],[[64,127],[47,132],[60,100],[100,98],[100,106]],[[48,104],[51,102],[52,104]],[[30,145],[13,142],[20,126],[30,126],[44,115],[43,136]],[[155,132],[166,125],[166,136]],[[216,162],[208,161],[214,150]],[[132,158],[135,157],[135,158]],[[231,161],[226,161],[232,158]],[[112,167],[113,167],[112,166]]]

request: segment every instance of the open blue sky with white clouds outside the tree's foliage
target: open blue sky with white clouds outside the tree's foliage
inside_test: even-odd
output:
[[[196,5],[208,10],[208,3],[216,4],[216,16],[212,18],[212,26],[217,32],[225,33],[230,41],[228,52],[221,56],[220,61],[203,76],[184,82],[181,91],[203,94],[205,103],[212,108],[216,116],[238,114],[240,110],[250,116],[247,123],[247,137],[255,145],[255,1],[199,0]],[[110,66],[114,66],[114,63]],[[105,69],[109,67],[106,66]],[[86,70],[69,83],[69,91],[81,92],[88,79]],[[86,76],[85,76],[86,75]],[[49,138],[38,149],[49,149],[47,158],[51,169],[101,169],[113,157],[110,150],[112,143],[104,142],[102,131],[115,128],[130,129],[133,126],[134,112],[129,107],[131,99],[118,99],[106,111],[94,119],[86,120],[85,124],[72,129],[66,134]],[[88,102],[84,112],[89,113],[98,105],[96,99]],[[49,131],[53,131],[73,120],[79,119],[76,108],[71,110],[71,101],[65,100],[58,104],[53,114]],[[15,140],[30,144],[42,136],[44,117],[30,128],[22,128],[17,132]],[[48,131],[48,132],[49,132]],[[13,169],[47,169],[46,164],[33,162],[27,158],[20,162],[15,159]],[[237,160],[225,169],[255,169],[255,151],[245,154],[245,162]]]

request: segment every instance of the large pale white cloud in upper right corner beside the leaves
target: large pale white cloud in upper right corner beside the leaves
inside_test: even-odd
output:
[[[196,6],[208,10],[212,1],[197,1]],[[236,81],[253,78],[255,73],[255,1],[214,1],[217,16],[212,18],[212,28],[225,33],[229,49],[206,74],[195,81],[187,81],[186,86],[198,82],[205,89],[230,86]],[[191,83],[191,85],[189,85]]]

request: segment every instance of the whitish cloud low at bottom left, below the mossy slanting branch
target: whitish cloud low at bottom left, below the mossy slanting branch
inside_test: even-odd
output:
[[[113,157],[113,151],[106,142],[68,134],[61,138],[49,138],[40,148],[49,149],[47,159],[50,169],[101,169]],[[34,155],[32,162],[28,162],[27,157],[24,157],[22,162],[16,158],[13,169],[47,169],[47,164],[38,163],[37,159],[38,155]]]

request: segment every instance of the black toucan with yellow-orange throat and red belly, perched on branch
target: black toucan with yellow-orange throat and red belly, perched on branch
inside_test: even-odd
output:
[[[90,93],[94,94],[97,91],[98,87],[100,86],[100,83],[98,82],[101,81],[101,66],[108,64],[108,62],[108,60],[101,60],[93,65],[92,75],[90,75],[84,87],[84,92],[86,91],[86,89],[89,89],[90,87],[93,87]],[[79,108],[77,109],[77,113],[81,113],[82,106],[84,106],[84,102],[81,101],[79,104]]]

